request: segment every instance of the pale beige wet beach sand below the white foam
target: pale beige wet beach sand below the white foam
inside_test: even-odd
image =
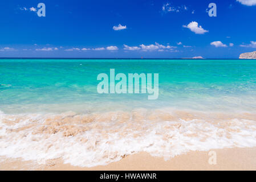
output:
[[[216,152],[216,165],[209,164],[208,152],[193,151],[178,155],[170,160],[153,157],[145,152],[126,156],[119,162],[107,166],[92,168],[76,167],[63,164],[61,159],[48,160],[46,164],[39,165],[21,159],[0,158],[0,170],[256,170],[256,147],[254,148],[225,148],[212,150]]]

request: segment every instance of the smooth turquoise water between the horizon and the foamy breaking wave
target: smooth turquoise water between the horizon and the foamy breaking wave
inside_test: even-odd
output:
[[[159,98],[98,94],[97,75],[159,73]],[[178,107],[255,110],[256,60],[1,59],[0,110],[40,113]]]

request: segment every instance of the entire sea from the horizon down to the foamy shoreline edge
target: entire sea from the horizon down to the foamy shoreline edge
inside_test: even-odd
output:
[[[97,75],[159,73],[159,98]],[[0,156],[92,167],[256,146],[256,60],[0,59]]]

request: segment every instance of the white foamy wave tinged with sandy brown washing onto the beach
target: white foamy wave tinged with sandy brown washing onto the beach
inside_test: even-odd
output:
[[[255,113],[134,109],[106,113],[4,114],[0,155],[93,167],[149,152],[165,159],[189,151],[256,146]]]

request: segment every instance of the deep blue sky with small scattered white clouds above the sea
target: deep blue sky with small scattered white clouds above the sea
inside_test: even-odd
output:
[[[9,0],[0,17],[0,57],[237,59],[256,51],[256,0]]]

